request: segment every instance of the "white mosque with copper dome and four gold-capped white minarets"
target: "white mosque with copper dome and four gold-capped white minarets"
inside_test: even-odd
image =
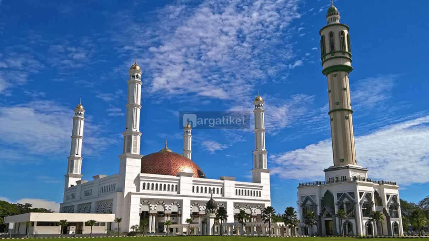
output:
[[[240,210],[250,215],[249,221],[261,222],[261,211],[271,205],[262,97],[258,95],[254,100],[252,182],[236,181],[236,178],[227,176],[211,179],[191,160],[192,135],[189,124],[184,127],[183,154],[171,151],[167,143],[158,152],[140,154],[141,78],[142,71],[134,63],[127,81],[127,121],[118,174],[96,175],[91,181],[82,179],[85,109],[80,103],[76,106],[60,212],[115,214],[115,217],[122,218],[120,229],[123,232],[129,232],[131,226],[139,225],[140,220],[146,219],[146,231],[162,233],[166,232],[164,222],[167,220],[177,227],[186,224],[188,218],[192,218],[193,223],[201,223],[206,204],[212,196],[218,207],[223,206],[227,210],[228,219],[225,223],[235,223]],[[113,230],[115,225],[112,223],[109,228]],[[201,229],[198,230],[201,233]],[[76,232],[79,233],[79,227]]]

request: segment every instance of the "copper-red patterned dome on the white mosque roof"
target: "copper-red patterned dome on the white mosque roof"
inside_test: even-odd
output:
[[[177,175],[178,172],[193,172],[194,178],[206,178],[196,163],[171,151],[159,151],[142,157],[142,173]]]

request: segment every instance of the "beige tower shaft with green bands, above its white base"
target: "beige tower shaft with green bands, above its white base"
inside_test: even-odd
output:
[[[356,165],[349,86],[349,73],[353,70],[349,27],[340,23],[340,13],[332,1],[326,22],[319,34],[322,73],[328,81],[334,166]]]

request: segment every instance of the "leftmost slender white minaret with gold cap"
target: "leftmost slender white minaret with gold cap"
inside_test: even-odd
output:
[[[76,185],[76,181],[81,180],[82,174],[82,140],[83,140],[83,124],[85,121],[85,109],[81,101],[75,108],[73,116],[72,143],[70,147],[69,162],[67,165],[66,182],[64,189]]]

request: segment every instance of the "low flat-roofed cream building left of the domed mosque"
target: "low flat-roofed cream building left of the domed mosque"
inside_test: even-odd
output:
[[[60,220],[67,220],[68,225],[61,228]],[[103,234],[110,230],[115,214],[27,213],[6,217],[4,223],[14,223],[13,235],[27,232],[30,235],[60,235],[61,229],[63,234],[89,234],[91,226],[85,225],[88,220],[97,221],[92,227],[93,234]],[[28,227],[27,222],[30,222]]]

